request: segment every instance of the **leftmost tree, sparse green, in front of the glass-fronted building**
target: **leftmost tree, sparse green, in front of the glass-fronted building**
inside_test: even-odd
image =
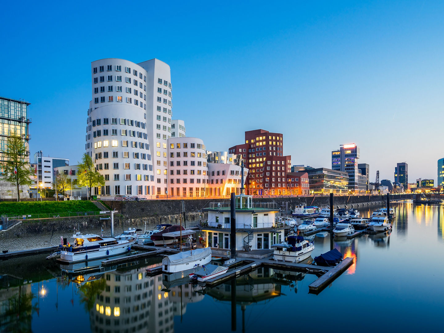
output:
[[[34,171],[31,170],[26,158],[26,146],[21,135],[12,132],[8,136],[8,149],[4,152],[7,159],[5,165],[5,182],[15,184],[17,188],[17,201],[20,201],[20,185],[32,185],[31,177]],[[38,185],[38,184],[37,184]]]

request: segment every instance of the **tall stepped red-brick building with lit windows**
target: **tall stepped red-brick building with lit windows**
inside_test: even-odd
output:
[[[287,190],[286,174],[291,170],[291,156],[283,155],[281,133],[265,130],[246,131],[245,143],[231,147],[228,152],[242,153],[245,166],[249,169],[247,194],[290,194]]]

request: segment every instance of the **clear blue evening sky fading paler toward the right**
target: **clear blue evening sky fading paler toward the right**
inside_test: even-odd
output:
[[[292,164],[357,143],[393,181],[444,157],[442,1],[75,1],[2,4],[0,95],[32,103],[31,153],[84,152],[91,61],[171,67],[173,118],[208,150],[281,132]]]

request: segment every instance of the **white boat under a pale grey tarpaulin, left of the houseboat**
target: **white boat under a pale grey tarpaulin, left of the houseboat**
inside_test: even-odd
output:
[[[176,273],[189,270],[195,266],[206,265],[211,261],[211,248],[203,247],[197,250],[183,251],[163,257],[162,271]]]

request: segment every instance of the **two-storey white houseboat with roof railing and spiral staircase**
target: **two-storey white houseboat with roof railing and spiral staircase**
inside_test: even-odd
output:
[[[210,202],[202,210],[208,213],[208,221],[202,227],[206,246],[220,250],[231,249],[230,202]],[[236,250],[271,249],[272,244],[284,239],[284,231],[290,227],[276,222],[281,210],[276,202],[253,202],[253,196],[239,194],[235,197]],[[215,252],[214,252],[215,253]]]

